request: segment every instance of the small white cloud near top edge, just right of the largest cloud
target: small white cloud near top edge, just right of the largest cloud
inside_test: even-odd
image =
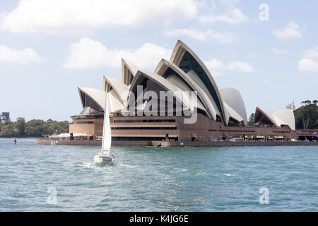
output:
[[[200,16],[199,20],[204,23],[214,23],[214,22],[225,22],[225,23],[243,23],[247,21],[247,16],[245,16],[242,11],[238,8],[232,8],[228,12],[221,15],[208,15],[208,16]]]

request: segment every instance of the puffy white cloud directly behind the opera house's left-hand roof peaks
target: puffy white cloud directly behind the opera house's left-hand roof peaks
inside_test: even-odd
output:
[[[172,49],[146,43],[138,49],[107,49],[102,43],[85,37],[69,47],[66,69],[96,69],[102,66],[120,67],[121,59],[134,62],[145,69],[153,69],[160,59],[168,58]]]

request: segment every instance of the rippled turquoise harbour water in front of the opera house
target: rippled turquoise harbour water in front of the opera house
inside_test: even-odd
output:
[[[0,138],[0,211],[318,210],[317,146],[97,149]]]

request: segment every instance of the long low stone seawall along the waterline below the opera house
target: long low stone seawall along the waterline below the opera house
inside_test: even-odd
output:
[[[53,145],[53,141],[37,140],[37,144]],[[95,145],[101,146],[102,141],[55,141],[55,145]],[[161,147],[239,147],[239,146],[302,146],[302,145],[318,145],[318,141],[112,141],[114,146],[161,146]]]

